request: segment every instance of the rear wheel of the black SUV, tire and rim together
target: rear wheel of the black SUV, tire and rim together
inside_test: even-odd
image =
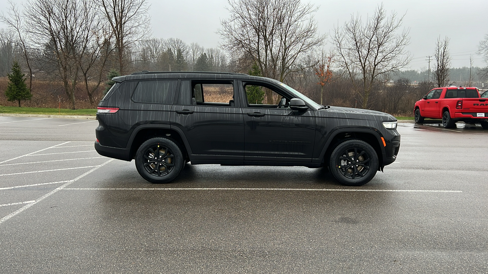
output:
[[[143,142],[136,152],[137,171],[152,183],[171,182],[183,170],[184,164],[182,150],[169,138],[151,138]]]

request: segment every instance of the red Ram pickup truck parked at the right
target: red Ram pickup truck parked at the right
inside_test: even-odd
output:
[[[488,129],[488,98],[481,98],[475,87],[442,87],[429,91],[415,102],[415,122],[424,118],[441,119],[445,128],[455,128],[457,121],[479,123]]]

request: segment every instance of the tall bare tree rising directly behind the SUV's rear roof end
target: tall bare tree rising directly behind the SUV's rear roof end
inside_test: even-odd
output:
[[[117,65],[127,73],[132,62],[131,48],[148,33],[150,17],[146,0],[96,0],[115,39]]]

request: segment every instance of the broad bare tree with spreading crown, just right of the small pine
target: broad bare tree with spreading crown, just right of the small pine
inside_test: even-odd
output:
[[[91,24],[96,16],[89,0],[31,0],[25,6],[29,32],[44,46],[43,57],[56,68],[75,109],[75,90],[80,82],[80,62],[88,47]]]

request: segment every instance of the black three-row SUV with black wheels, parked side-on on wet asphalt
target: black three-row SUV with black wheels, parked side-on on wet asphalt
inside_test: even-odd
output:
[[[239,73],[136,72],[98,106],[95,149],[136,160],[153,183],[191,164],[328,167],[359,186],[396,159],[386,113],[323,106],[282,82]]]

